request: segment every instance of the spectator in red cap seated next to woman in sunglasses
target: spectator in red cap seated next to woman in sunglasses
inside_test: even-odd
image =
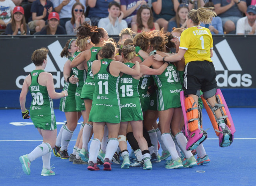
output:
[[[59,25],[59,14],[51,12],[48,16],[48,24],[41,29],[40,35],[61,35],[66,34],[65,28]]]

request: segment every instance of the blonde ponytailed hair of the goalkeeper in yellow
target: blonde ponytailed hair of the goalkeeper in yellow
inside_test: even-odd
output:
[[[191,19],[195,24],[203,22],[204,24],[211,23],[211,17],[217,16],[216,12],[213,11],[214,7],[200,7],[197,10],[192,9],[187,14],[187,17]]]

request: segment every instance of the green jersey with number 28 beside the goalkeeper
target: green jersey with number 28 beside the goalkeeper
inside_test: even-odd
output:
[[[180,84],[180,80],[177,74],[177,68],[172,63],[167,66],[167,68],[165,69],[165,71],[163,71],[161,75],[155,75],[153,76],[153,78],[159,89],[169,86],[171,84]]]

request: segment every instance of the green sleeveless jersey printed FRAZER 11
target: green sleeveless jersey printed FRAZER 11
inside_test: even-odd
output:
[[[107,71],[112,59],[101,59],[100,70],[94,75],[95,91],[92,104],[120,105],[118,84],[119,78],[112,76]]]

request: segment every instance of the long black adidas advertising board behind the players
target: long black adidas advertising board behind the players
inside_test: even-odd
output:
[[[66,35],[0,37],[2,61],[0,90],[20,90],[25,77],[35,66],[30,60],[34,50],[48,48],[46,71],[52,73],[57,89],[64,86],[63,66],[67,58],[60,53],[68,39]],[[116,41],[119,38],[113,37]],[[219,35],[213,36],[213,64],[219,88],[256,88],[254,43],[255,36]],[[10,73],[11,72],[11,73]]]

